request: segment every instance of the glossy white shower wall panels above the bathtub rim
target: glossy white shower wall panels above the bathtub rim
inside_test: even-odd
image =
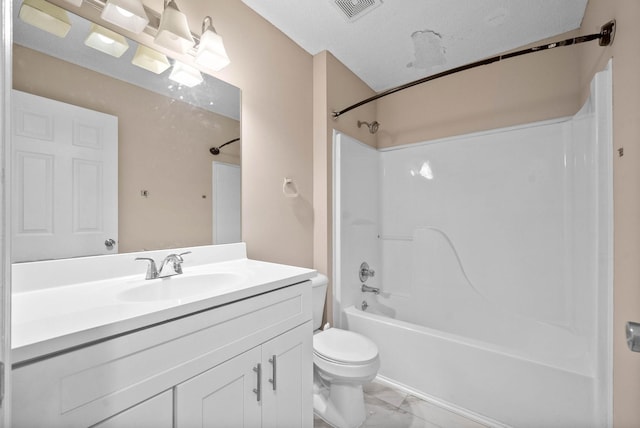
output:
[[[592,116],[383,151],[339,135],[336,303],[366,297],[367,261],[377,270],[367,284],[406,321],[495,342],[483,324],[506,313],[571,331],[593,352]]]

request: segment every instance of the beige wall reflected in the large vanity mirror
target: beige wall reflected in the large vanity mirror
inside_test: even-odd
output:
[[[209,148],[238,137],[237,120],[22,46],[13,59],[14,89],[118,116],[120,252],[211,244]],[[240,144],[216,160],[240,164]]]

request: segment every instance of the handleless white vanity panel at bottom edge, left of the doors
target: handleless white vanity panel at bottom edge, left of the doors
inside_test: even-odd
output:
[[[172,428],[173,394],[163,392],[116,416],[102,421],[94,428]]]

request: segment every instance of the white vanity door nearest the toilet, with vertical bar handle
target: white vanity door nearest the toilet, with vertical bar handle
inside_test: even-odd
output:
[[[264,428],[313,426],[311,321],[262,345]]]

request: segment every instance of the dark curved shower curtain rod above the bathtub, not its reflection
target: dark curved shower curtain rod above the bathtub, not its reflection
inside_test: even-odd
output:
[[[361,107],[365,104],[368,104],[372,101],[378,100],[382,97],[386,97],[387,95],[395,94],[396,92],[402,91],[404,89],[412,88],[416,85],[420,85],[422,83],[430,82],[431,80],[436,80],[441,77],[449,76],[451,74],[455,74],[461,71],[470,70],[472,68],[480,67],[482,65],[492,64],[494,62],[502,61],[504,59],[514,58],[521,55],[526,55],[530,53],[540,52],[544,50],[554,49],[560,46],[571,46],[577,45],[580,43],[590,42],[592,40],[599,40],[600,46],[609,46],[613,43],[613,37],[616,32],[616,21],[615,19],[607,22],[602,27],[600,27],[599,33],[589,34],[586,36],[574,37],[572,39],[565,39],[559,42],[548,43],[546,45],[535,46],[533,48],[522,49],[516,52],[511,52],[507,54],[497,55],[491,58],[483,59],[480,61],[472,62],[470,64],[462,65],[460,67],[452,68],[451,70],[443,71],[442,73],[433,74],[431,76],[423,77],[422,79],[414,80],[413,82],[405,83],[404,85],[396,86],[395,88],[387,89],[384,92],[380,92],[372,97],[369,97],[365,100],[362,100],[358,103],[355,103],[347,108],[344,108],[340,111],[334,111],[332,113],[333,119],[337,120],[343,114]]]

